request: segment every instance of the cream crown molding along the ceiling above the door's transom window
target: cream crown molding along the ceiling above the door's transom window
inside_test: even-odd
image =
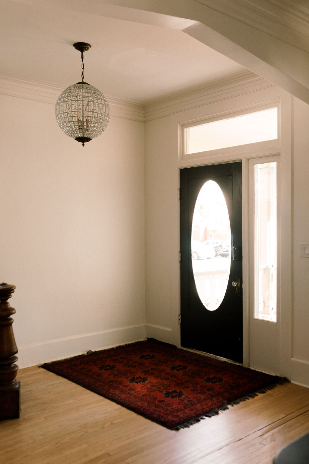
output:
[[[186,92],[148,102],[144,106],[145,121],[244,95],[273,85],[263,77],[251,71],[246,71],[233,77],[217,80],[207,86],[195,87]]]

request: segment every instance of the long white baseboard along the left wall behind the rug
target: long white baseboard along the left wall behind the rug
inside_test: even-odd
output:
[[[18,347],[18,367],[30,367],[44,362],[57,361],[88,350],[111,348],[125,343],[145,340],[145,324],[118,327],[89,334],[48,340]]]

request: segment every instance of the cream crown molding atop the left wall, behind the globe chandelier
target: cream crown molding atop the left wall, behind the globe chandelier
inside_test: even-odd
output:
[[[63,90],[63,87],[54,84],[0,74],[0,94],[2,95],[54,105]],[[111,109],[111,116],[144,121],[143,105],[121,98],[109,96],[106,98]]]

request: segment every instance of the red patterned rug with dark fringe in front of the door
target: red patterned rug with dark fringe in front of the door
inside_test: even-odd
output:
[[[169,429],[195,424],[283,380],[154,339],[40,367]]]

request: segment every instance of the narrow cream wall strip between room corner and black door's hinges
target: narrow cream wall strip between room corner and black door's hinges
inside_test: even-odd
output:
[[[179,345],[177,170],[173,170],[170,116],[145,123],[146,335]],[[176,207],[175,201],[176,200]],[[177,227],[176,227],[177,228]],[[176,267],[176,272],[175,272]]]

